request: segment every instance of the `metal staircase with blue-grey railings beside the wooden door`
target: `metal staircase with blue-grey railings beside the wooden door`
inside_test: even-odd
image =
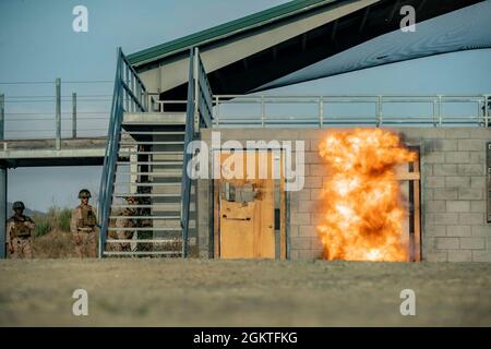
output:
[[[99,192],[99,256],[182,256],[197,240],[184,149],[211,127],[212,94],[197,49],[190,52],[185,112],[151,111],[153,100],[121,49]],[[148,108],[149,107],[149,108]],[[135,203],[128,204],[125,197]],[[131,208],[131,215],[121,212]],[[129,227],[116,220],[131,219]],[[115,237],[132,232],[131,239]],[[121,251],[115,246],[125,243]]]

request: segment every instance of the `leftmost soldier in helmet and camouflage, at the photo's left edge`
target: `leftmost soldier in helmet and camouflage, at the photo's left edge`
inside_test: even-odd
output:
[[[32,258],[32,231],[34,221],[24,216],[24,203],[16,201],[12,205],[15,213],[7,220],[7,248],[12,258]]]

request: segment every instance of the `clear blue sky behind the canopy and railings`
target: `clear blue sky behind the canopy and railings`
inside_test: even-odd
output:
[[[284,3],[280,0],[2,0],[0,1],[0,83],[19,81],[110,81],[116,47],[127,53],[158,45],[209,26]],[[72,9],[88,9],[88,33],[72,31]],[[295,86],[278,93],[301,94],[482,94],[491,93],[491,50],[466,51],[402,62]],[[110,83],[64,84],[62,95],[107,94],[107,100],[82,100],[83,112],[109,109]],[[7,118],[23,112],[52,115],[53,104],[14,103],[9,96],[53,95],[50,84],[2,85]],[[104,98],[100,98],[104,99]],[[62,111],[70,111],[69,99]],[[12,113],[9,116],[9,112]],[[104,118],[105,113],[98,115]],[[100,122],[99,122],[100,121]],[[105,120],[91,125],[105,132]],[[11,136],[32,136],[32,130],[8,122]],[[67,124],[68,125],[68,124]],[[13,132],[15,131],[15,132]],[[37,133],[37,132],[36,132]],[[49,134],[49,132],[48,132]],[[98,190],[100,168],[34,168],[9,170],[9,201],[28,207],[72,206],[80,188]]]

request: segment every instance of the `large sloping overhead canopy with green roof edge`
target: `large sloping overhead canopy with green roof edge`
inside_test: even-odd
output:
[[[403,33],[403,5],[417,29]],[[431,55],[491,47],[491,0],[296,0],[129,56],[149,91],[185,99],[199,47],[215,94],[247,94]]]

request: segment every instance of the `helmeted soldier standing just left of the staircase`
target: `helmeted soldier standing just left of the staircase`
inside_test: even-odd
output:
[[[97,256],[97,216],[96,210],[88,204],[91,192],[82,189],[79,192],[80,205],[72,212],[70,231],[75,240],[75,253],[82,257],[84,248],[88,246],[88,256]]]

